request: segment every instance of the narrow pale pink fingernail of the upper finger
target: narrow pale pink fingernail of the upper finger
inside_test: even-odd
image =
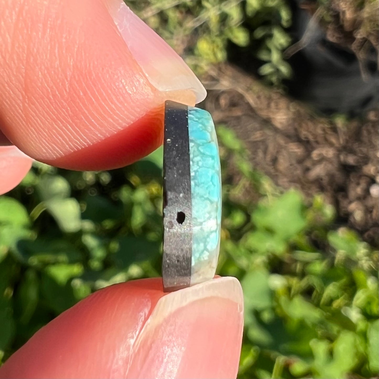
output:
[[[122,38],[150,83],[160,91],[193,91],[196,103],[207,96],[204,86],[186,63],[122,0],[106,0]]]

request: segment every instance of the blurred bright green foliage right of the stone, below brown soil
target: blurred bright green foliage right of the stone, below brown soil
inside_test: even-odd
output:
[[[335,230],[322,196],[306,204],[298,191],[280,191],[254,172],[230,130],[218,135],[224,162],[241,174],[224,185],[219,265],[244,291],[239,377],[376,376],[378,252],[352,230]],[[246,182],[262,195],[257,203],[233,194]]]

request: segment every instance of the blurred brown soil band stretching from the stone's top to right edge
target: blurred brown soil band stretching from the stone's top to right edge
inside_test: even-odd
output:
[[[213,67],[203,82],[207,110],[235,130],[256,169],[307,197],[323,193],[337,222],[379,244],[377,110],[339,125],[230,65]]]

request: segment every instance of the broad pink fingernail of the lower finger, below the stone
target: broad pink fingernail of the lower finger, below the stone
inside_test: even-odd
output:
[[[236,377],[243,294],[222,277],[163,296],[133,349],[128,377]]]

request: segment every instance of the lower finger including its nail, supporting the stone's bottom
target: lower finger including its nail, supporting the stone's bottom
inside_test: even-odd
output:
[[[39,330],[0,378],[236,377],[242,308],[234,278],[171,294],[161,278],[113,285]]]

